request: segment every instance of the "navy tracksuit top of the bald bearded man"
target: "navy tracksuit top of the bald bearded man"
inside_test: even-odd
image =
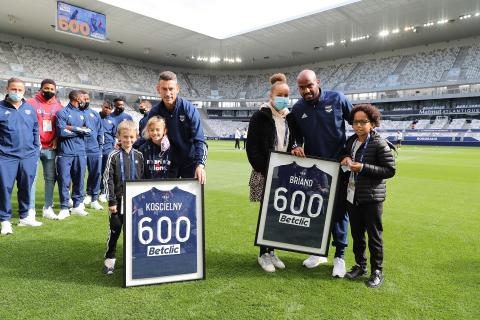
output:
[[[352,104],[341,92],[320,91],[318,102],[303,98],[292,108],[295,142],[305,154],[338,160],[345,146],[345,121],[351,123]]]

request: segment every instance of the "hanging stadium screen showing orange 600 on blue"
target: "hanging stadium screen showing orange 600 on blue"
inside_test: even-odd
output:
[[[107,40],[106,22],[104,14],[65,2],[57,2],[57,31],[96,40]]]

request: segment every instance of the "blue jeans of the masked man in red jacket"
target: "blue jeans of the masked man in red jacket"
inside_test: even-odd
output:
[[[43,180],[45,181],[45,197],[43,208],[53,207],[53,189],[55,188],[55,155],[56,152],[53,149],[41,149],[40,161],[43,166]],[[32,190],[30,191],[30,209],[35,209],[35,192],[37,186],[38,167],[40,161],[37,163],[37,172],[35,174],[35,180],[33,180]]]

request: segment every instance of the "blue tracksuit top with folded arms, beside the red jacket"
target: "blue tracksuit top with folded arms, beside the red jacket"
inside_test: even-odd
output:
[[[68,130],[67,126],[72,126],[73,129]],[[70,103],[57,112],[58,155],[86,155],[85,136],[90,135],[90,133],[83,133],[78,130],[83,126],[86,126],[84,112]]]

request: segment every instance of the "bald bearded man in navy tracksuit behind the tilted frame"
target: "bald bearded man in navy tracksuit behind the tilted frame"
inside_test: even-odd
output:
[[[299,73],[297,86],[302,98],[292,107],[295,120],[292,132],[295,145],[292,154],[336,161],[345,147],[345,121],[351,123],[352,104],[341,92],[321,90],[320,80],[312,70]],[[338,205],[335,208],[332,216],[332,236],[332,245],[335,247],[332,277],[343,278],[346,273],[344,255],[348,243],[348,215],[344,206]],[[325,262],[327,258],[312,255],[303,265],[315,268]]]

